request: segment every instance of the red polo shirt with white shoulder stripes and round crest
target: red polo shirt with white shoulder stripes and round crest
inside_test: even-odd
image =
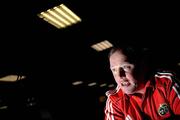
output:
[[[108,91],[105,120],[162,120],[180,116],[180,87],[171,73],[157,73],[145,94],[126,95],[120,88]]]

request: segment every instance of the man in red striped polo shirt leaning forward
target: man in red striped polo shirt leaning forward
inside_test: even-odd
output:
[[[153,73],[143,50],[115,47],[109,53],[117,83],[107,91],[105,120],[180,118],[180,92],[174,74]]]

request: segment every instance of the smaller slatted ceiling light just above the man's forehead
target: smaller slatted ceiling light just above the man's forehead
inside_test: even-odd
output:
[[[91,48],[95,49],[96,51],[103,51],[103,50],[106,50],[110,47],[112,47],[113,44],[111,44],[108,40],[104,40],[102,42],[99,42],[99,43],[96,43],[96,44],[93,44],[91,46]]]

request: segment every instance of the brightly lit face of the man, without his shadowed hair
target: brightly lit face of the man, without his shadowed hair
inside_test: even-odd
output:
[[[120,89],[126,94],[132,94],[137,87],[134,78],[134,65],[127,61],[127,57],[121,51],[116,51],[110,58],[110,69]]]

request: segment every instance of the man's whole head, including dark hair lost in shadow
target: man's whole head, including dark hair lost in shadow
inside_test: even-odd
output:
[[[110,69],[122,91],[132,94],[146,82],[148,64],[144,52],[135,47],[114,47],[109,53]]]

